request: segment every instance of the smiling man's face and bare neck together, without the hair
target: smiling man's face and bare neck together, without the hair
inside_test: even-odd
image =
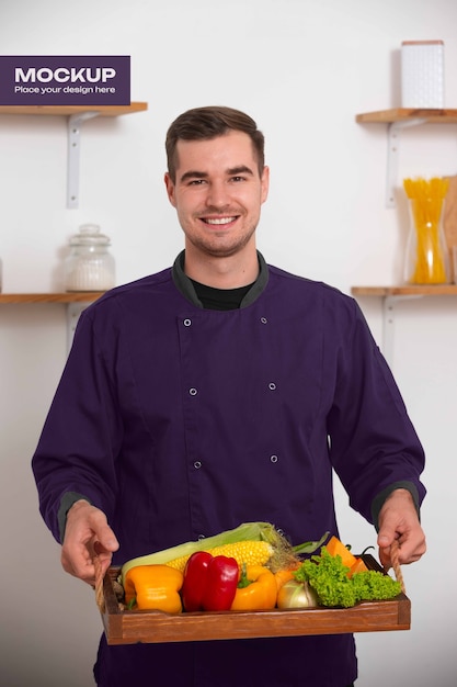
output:
[[[229,131],[210,140],[179,140],[174,155],[178,171],[165,174],[165,184],[185,234],[186,274],[221,289],[253,281],[269,168],[259,169],[251,138]]]

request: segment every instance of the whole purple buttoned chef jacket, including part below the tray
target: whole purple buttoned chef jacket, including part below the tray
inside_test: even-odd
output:
[[[77,495],[106,514],[114,564],[251,520],[295,544],[338,534],[332,470],[368,521],[392,485],[422,502],[423,450],[356,302],[259,261],[239,309],[204,309],[181,254],[83,312],[33,458],[58,541]],[[357,668],[350,634],[102,638],[94,673],[104,687],[345,687]]]

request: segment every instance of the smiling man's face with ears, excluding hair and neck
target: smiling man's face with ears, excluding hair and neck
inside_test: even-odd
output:
[[[176,179],[165,174],[186,248],[229,257],[252,241],[269,192],[248,134],[230,131],[210,140],[179,140]]]

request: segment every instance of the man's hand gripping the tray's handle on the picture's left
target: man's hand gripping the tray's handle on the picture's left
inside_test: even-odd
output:
[[[99,556],[103,575],[111,565],[118,541],[107,523],[105,514],[87,500],[77,500],[67,513],[61,548],[61,565],[75,577],[94,586],[93,560]]]

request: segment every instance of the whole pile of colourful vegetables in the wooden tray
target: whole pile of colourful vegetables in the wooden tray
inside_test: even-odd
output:
[[[247,536],[256,538],[237,541]],[[180,613],[349,608],[400,594],[399,582],[368,570],[336,537],[321,545],[328,536],[292,547],[272,525],[248,522],[203,541],[134,559],[119,575],[124,601],[133,610]]]

